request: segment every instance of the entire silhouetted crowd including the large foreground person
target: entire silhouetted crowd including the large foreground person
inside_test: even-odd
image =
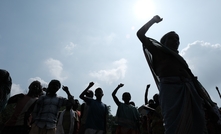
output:
[[[178,54],[179,36],[171,31],[160,42],[147,37],[149,28],[163,19],[156,15],[137,32],[143,51],[153,74],[159,94],[148,100],[150,85],[144,92],[144,105],[136,107],[131,94],[124,92],[121,102],[116,94],[124,84],[120,83],[112,92],[117,105],[114,130],[108,132],[108,107],[102,102],[102,88],[93,92],[90,82],[79,95],[84,101],[80,105],[69,92],[67,86],[61,86],[59,80],[51,80],[47,88],[39,81],[33,81],[27,94],[16,94],[4,100],[15,103],[13,114],[4,123],[2,134],[220,134],[221,110],[213,102],[200,84],[186,61]],[[8,86],[11,79],[4,73]],[[7,78],[6,78],[7,77]],[[2,79],[2,78],[1,78]],[[67,98],[57,96],[62,88]],[[43,93],[45,92],[45,93]],[[95,99],[94,99],[95,96]]]

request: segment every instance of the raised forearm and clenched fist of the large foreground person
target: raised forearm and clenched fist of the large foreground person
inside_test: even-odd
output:
[[[161,22],[163,19],[160,18],[160,16],[156,15],[154,16],[150,21],[148,21],[145,25],[143,25],[138,31],[137,31],[137,37],[140,39],[142,43],[145,42],[146,36],[145,33],[148,31],[148,29],[154,24]]]

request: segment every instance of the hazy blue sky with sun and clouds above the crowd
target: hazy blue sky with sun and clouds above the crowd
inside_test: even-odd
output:
[[[179,53],[221,107],[221,2],[218,0],[0,0],[0,68],[12,77],[11,96],[27,93],[39,80],[68,86],[78,99],[90,82],[101,87],[102,101],[117,105],[111,93],[130,92],[139,107],[159,93],[142,52],[137,30],[153,16],[147,36],[156,40],[169,31],[180,36]],[[67,97],[60,89],[59,96]]]

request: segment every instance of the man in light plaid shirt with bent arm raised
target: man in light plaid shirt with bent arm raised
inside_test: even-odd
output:
[[[58,97],[56,92],[61,88],[58,80],[51,80],[46,90],[46,95],[41,96],[36,102],[32,113],[34,123],[31,126],[30,134],[55,134],[57,124],[57,114],[62,106],[68,103],[74,104],[73,96],[70,94],[68,87],[63,86],[68,99]]]

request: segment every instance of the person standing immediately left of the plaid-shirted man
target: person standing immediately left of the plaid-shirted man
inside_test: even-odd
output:
[[[16,94],[9,98],[8,104],[16,103],[12,117],[5,123],[3,134],[28,134],[31,128],[31,112],[36,100],[42,95],[42,87],[39,81],[33,81],[28,94]]]

